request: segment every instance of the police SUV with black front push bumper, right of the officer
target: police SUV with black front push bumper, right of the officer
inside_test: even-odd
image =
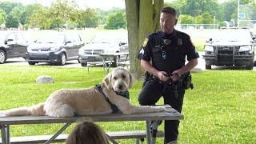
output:
[[[254,67],[254,50],[256,39],[249,29],[218,30],[206,41],[206,69],[215,66]]]

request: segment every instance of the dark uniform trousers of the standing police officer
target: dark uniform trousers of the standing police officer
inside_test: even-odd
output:
[[[170,84],[161,83],[158,80],[149,80],[144,83],[141,93],[138,95],[138,102],[142,106],[153,106],[163,96],[164,104],[169,104],[178,112],[182,112],[185,89],[178,87],[178,97]],[[165,142],[176,141],[178,138],[178,120],[165,121]]]

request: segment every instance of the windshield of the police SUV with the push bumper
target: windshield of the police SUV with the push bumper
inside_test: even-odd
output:
[[[249,30],[221,30],[215,33],[211,38],[213,41],[217,42],[242,42],[251,40]]]

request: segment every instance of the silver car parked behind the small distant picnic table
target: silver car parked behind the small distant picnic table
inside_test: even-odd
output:
[[[102,62],[102,57],[98,54],[118,52],[128,52],[128,44],[126,40],[118,42],[118,40],[115,40],[115,38],[112,37],[95,37],[91,42],[87,43],[79,50],[79,62],[82,66],[87,66],[87,62]],[[110,59],[106,59],[106,61],[110,61]],[[117,61],[118,58],[114,58],[111,66],[117,66]]]

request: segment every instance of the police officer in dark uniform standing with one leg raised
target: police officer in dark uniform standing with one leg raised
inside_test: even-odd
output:
[[[180,78],[198,64],[198,53],[188,34],[174,29],[176,10],[164,7],[160,15],[161,31],[150,34],[138,54],[147,78],[138,95],[140,105],[154,105],[163,96],[164,103],[182,111],[185,88]],[[187,63],[185,65],[187,59]],[[169,81],[174,83],[170,84]],[[166,83],[168,82],[168,83]],[[165,142],[177,143],[179,121],[165,121]]]

